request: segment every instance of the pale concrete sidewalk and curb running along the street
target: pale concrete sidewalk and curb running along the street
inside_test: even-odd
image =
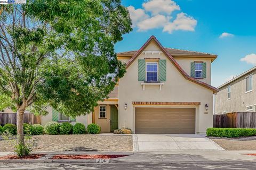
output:
[[[40,152],[44,153],[44,152]],[[57,154],[129,155],[108,160],[107,163],[182,163],[182,162],[246,162],[256,161],[255,151],[154,151],[154,152],[47,152],[41,159],[0,160],[0,163],[96,163],[96,159],[49,159]],[[9,153],[2,152],[1,155]]]

